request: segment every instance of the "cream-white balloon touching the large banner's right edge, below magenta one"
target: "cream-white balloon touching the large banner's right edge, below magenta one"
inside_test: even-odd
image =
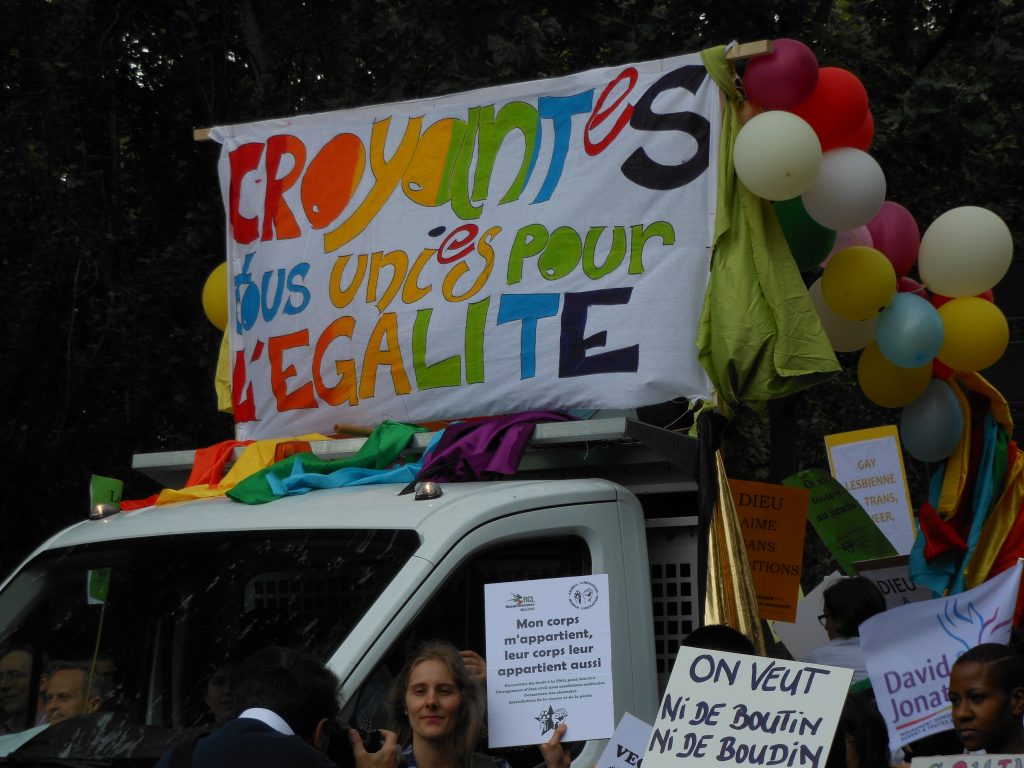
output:
[[[803,118],[763,112],[739,129],[732,165],[746,188],[765,200],[791,200],[811,185],[821,165],[821,143]]]

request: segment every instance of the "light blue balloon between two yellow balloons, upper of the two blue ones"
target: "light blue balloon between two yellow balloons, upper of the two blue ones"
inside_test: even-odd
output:
[[[942,348],[942,317],[927,299],[898,293],[874,324],[879,351],[900,368],[921,368]]]

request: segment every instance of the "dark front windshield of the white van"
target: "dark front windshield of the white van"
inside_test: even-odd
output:
[[[41,554],[0,593],[0,759],[152,765],[172,731],[230,716],[252,651],[329,657],[418,546],[412,530],[286,530]],[[82,702],[47,695],[51,679]]]

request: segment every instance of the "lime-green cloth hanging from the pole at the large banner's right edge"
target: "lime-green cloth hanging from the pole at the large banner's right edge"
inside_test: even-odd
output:
[[[771,203],[736,178],[739,94],[725,48],[701,51],[727,97],[718,160],[718,213],[697,355],[725,415],[818,384],[841,370]]]

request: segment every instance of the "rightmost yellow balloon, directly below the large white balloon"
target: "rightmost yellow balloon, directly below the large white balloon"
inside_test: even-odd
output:
[[[982,371],[1007,351],[1010,325],[991,301],[969,296],[939,307],[944,336],[938,358],[953,371]]]

